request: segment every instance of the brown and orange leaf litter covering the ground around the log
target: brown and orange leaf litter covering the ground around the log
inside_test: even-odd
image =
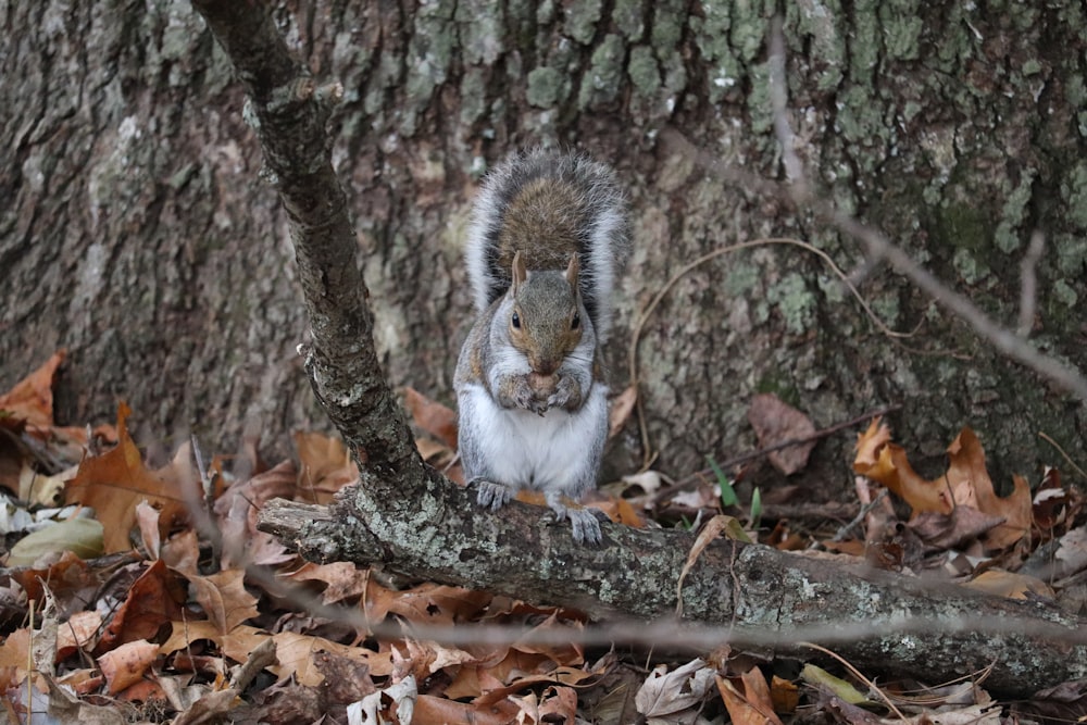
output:
[[[958,684],[877,685],[848,666],[832,674],[809,662],[789,671],[727,649],[683,660],[587,652],[574,643],[453,647],[414,638],[413,622],[528,626],[570,632],[571,641],[587,625],[576,611],[302,561],[257,530],[257,513],[276,497],[324,503],[355,482],[342,442],[298,433],[297,460],[267,466],[250,441],[238,477],[221,457],[198,471],[188,443],[151,467],[128,433],[124,403],[115,426],[88,433],[53,424],[52,380],[63,357],[0,396],[0,523],[8,536],[0,691],[8,722],[29,722],[30,710],[40,723],[183,725],[951,725],[1087,714],[1083,682],[998,703],[984,689],[984,673]],[[414,390],[403,396],[421,452],[457,480],[455,416]],[[632,409],[627,400],[613,411],[614,430],[623,423],[614,418]],[[749,422],[780,476],[804,470],[816,430],[802,412],[762,395]],[[783,446],[788,441],[802,442]],[[863,515],[845,527],[833,516],[813,523],[775,515],[795,486],[737,496],[745,470],[713,465],[714,476],[699,472],[685,482],[640,472],[602,487],[590,504],[632,526],[698,526],[705,539],[835,551],[907,575],[1087,611],[1083,496],[1057,468],[1033,491],[1015,476],[1009,495],[998,495],[969,427],[949,445],[947,471],[926,479],[890,428],[873,421],[858,436],[853,462]],[[399,636],[389,623],[403,625]]]

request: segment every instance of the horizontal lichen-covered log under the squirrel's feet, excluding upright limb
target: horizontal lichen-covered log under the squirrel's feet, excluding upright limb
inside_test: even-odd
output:
[[[474,491],[439,476],[418,493],[388,507],[353,491],[327,510],[276,500],[262,511],[261,525],[312,561],[382,563],[412,578],[577,607],[612,621],[676,613],[694,535],[605,525],[603,545],[592,549],[574,545],[569,527],[535,507],[478,515]],[[837,629],[835,651],[870,676],[948,682],[991,666],[985,687],[1010,697],[1087,676],[1087,622],[1054,608],[769,547],[712,542],[684,579],[683,604],[685,622],[719,625],[722,640],[767,655],[808,659],[797,630]],[[1055,626],[1039,634],[1039,625]],[[721,642],[708,635],[699,643]]]

